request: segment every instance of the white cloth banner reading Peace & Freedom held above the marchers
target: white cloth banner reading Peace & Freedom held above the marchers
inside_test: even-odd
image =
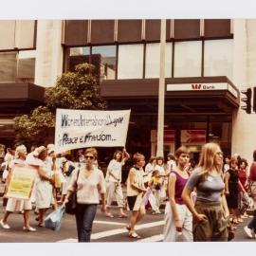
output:
[[[124,147],[131,110],[57,109],[57,152],[86,147]]]

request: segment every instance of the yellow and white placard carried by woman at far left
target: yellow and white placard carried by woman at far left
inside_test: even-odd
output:
[[[36,170],[31,167],[14,167],[11,172],[9,187],[5,197],[29,199],[34,186],[36,173]]]

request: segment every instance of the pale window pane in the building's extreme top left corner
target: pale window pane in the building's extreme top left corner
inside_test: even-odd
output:
[[[13,49],[14,36],[15,21],[0,21],[0,49]]]

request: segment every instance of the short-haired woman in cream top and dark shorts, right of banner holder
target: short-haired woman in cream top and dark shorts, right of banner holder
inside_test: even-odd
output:
[[[143,166],[145,165],[145,156],[139,153],[133,156],[134,166],[130,169],[127,178],[127,202],[129,209],[132,210],[132,216],[126,229],[129,230],[129,236],[140,238],[135,230],[135,226],[145,214],[145,206],[142,204],[142,195],[146,192],[143,181]]]

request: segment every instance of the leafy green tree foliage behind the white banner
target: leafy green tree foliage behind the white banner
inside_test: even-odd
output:
[[[16,142],[28,145],[52,142],[56,108],[106,108],[92,64],[78,64],[75,72],[64,73],[57,79],[55,87],[46,88],[45,102],[45,106],[35,108],[30,115],[14,119]]]

